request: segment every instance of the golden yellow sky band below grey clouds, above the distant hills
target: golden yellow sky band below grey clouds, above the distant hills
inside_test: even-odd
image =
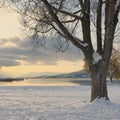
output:
[[[60,61],[57,65],[21,65],[13,67],[3,67],[1,72],[10,76],[21,76],[25,74],[38,73],[69,73],[79,71],[83,67],[83,61],[77,63],[69,61]]]

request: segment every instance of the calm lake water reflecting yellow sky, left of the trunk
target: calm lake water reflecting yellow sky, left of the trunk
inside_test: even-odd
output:
[[[90,85],[88,78],[39,78],[24,81],[0,82],[0,86],[78,86]]]

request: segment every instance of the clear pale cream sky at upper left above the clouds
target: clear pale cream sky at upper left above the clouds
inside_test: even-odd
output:
[[[0,38],[6,39],[21,36],[21,25],[18,18],[18,14],[0,8]]]

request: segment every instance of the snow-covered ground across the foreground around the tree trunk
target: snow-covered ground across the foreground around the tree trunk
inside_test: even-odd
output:
[[[120,86],[108,89],[90,103],[90,86],[1,86],[0,120],[120,120]]]

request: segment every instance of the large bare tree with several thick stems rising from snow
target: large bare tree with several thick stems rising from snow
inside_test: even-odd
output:
[[[91,71],[91,101],[101,97],[108,99],[106,75],[120,0],[10,1],[31,34],[38,37],[57,33],[82,50]],[[96,31],[94,34],[93,30]],[[96,45],[92,41],[96,41]]]

